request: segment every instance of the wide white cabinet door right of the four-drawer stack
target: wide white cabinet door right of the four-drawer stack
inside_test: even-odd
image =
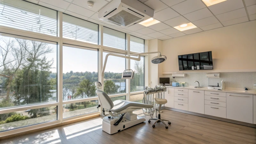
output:
[[[245,123],[253,123],[253,95],[228,93],[227,118]]]

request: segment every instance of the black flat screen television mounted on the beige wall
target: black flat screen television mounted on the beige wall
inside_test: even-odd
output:
[[[213,69],[212,51],[178,56],[179,70]]]

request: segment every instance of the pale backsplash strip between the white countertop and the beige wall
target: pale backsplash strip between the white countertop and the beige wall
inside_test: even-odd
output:
[[[217,85],[217,83],[220,86],[220,82],[223,80],[225,87],[247,87],[248,90],[256,90],[256,86],[253,86],[256,84],[256,72],[225,72],[220,73],[220,78],[207,78],[206,73],[186,73],[186,77],[172,78],[171,75],[168,77],[170,77],[170,81],[186,82],[185,86],[198,86],[197,83],[194,83],[195,81],[198,81],[200,86]]]

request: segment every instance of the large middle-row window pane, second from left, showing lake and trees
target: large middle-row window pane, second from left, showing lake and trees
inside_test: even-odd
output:
[[[95,97],[98,52],[63,46],[63,101]]]

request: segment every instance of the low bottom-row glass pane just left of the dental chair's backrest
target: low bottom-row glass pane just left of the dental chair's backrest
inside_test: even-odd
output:
[[[63,105],[63,118],[97,112],[98,105],[99,105],[98,100],[65,104]]]

